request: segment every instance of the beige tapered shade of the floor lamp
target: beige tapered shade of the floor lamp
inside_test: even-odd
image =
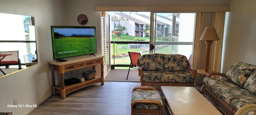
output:
[[[206,27],[204,29],[204,32],[200,40],[214,41],[214,40],[220,40],[220,38],[214,27]]]

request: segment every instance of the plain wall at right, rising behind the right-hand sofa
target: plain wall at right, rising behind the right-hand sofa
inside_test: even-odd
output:
[[[226,13],[222,69],[226,73],[237,62],[256,65],[256,0],[230,0]]]

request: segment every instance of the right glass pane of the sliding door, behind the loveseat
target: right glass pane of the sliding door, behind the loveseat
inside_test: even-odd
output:
[[[150,52],[193,54],[196,13],[151,12]]]

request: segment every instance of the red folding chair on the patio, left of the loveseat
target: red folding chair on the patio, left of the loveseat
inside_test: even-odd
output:
[[[140,53],[138,53],[138,52],[128,52],[128,54],[130,56],[131,63],[130,63],[130,67],[129,67],[129,70],[128,70],[126,80],[128,79],[130,68],[137,69],[137,60],[141,56]]]

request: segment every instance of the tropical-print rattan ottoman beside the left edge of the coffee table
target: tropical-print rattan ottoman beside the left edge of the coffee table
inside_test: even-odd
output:
[[[151,86],[138,86],[132,89],[132,114],[158,114],[161,115],[163,107],[160,93]]]

